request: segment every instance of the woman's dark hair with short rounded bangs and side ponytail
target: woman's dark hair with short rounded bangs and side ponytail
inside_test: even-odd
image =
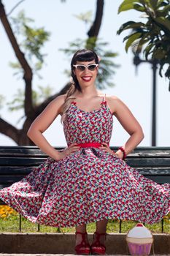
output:
[[[73,67],[73,65],[75,65],[77,61],[93,61],[93,59],[95,60],[95,63],[98,64],[99,61],[98,61],[97,54],[90,49],[77,50],[77,52],[74,53],[74,56],[72,57],[72,61],[71,61],[71,69],[72,69],[72,78],[73,78],[75,89],[81,91],[81,87],[78,83],[77,77],[76,75],[74,75],[75,68]]]

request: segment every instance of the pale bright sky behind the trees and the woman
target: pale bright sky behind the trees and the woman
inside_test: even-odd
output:
[[[12,7],[18,1],[3,1],[5,10],[9,13]],[[125,52],[123,37],[125,33],[117,35],[117,29],[128,20],[142,20],[141,12],[128,11],[117,14],[122,0],[105,0],[104,18],[101,24],[99,37],[105,42],[109,42],[106,50],[112,50],[118,53],[115,63],[120,67],[115,69],[115,75],[112,82],[115,86],[107,87],[102,90],[104,94],[115,95],[119,97],[125,105],[131,110],[144,131],[144,140],[139,146],[151,146],[152,135],[152,67],[150,64],[140,64],[136,70],[133,64],[133,54],[131,49]],[[24,10],[26,16],[35,20],[36,27],[45,27],[50,31],[50,41],[46,43],[43,52],[47,53],[45,66],[42,69],[42,80],[34,77],[33,87],[37,85],[51,86],[54,93],[61,90],[66,84],[68,78],[64,74],[64,69],[69,69],[71,57],[65,56],[59,49],[67,48],[69,42],[77,38],[86,38],[86,33],[90,25],[77,20],[75,15],[92,11],[93,17],[96,10],[96,0],[66,0],[62,3],[60,0],[25,0],[16,8],[10,17],[18,15],[20,10]],[[142,20],[144,21],[144,20]],[[12,101],[12,96],[18,89],[24,88],[22,79],[13,75],[13,70],[9,67],[9,61],[16,61],[15,54],[9,44],[4,28],[0,23],[1,48],[0,48],[0,94],[6,98],[4,108],[0,110],[1,118],[9,121],[15,127],[22,127],[23,111],[9,112],[7,102]],[[170,92],[169,83],[165,78],[157,75],[157,143],[156,146],[170,145]],[[61,116],[58,116],[53,124],[44,133],[45,138],[53,146],[66,146],[66,140],[63,135],[63,126]],[[112,132],[111,146],[122,146],[128,140],[129,135],[114,117],[114,126]],[[1,146],[15,146],[15,142],[0,135]]]

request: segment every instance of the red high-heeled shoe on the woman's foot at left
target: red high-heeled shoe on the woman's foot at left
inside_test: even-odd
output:
[[[87,235],[87,232],[81,233],[81,232],[76,232],[75,235],[81,234],[82,235],[82,241],[80,244],[77,244],[75,246],[75,251],[77,255],[90,255],[90,244],[88,244],[85,241],[85,235]]]

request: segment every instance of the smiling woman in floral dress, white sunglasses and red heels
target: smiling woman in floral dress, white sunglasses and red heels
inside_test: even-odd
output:
[[[154,223],[168,214],[170,184],[159,185],[126,165],[127,154],[144,138],[142,128],[117,97],[96,89],[98,56],[78,50],[71,63],[73,83],[50,102],[28,130],[49,158],[0,197],[24,217],[43,225],[76,227],[77,254],[105,254],[108,219]],[[42,135],[61,115],[68,147],[57,151]],[[130,135],[116,152],[109,148],[112,116]],[[96,222],[93,243],[86,224]]]

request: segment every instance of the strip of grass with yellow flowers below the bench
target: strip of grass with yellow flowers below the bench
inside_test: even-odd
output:
[[[170,233],[170,214],[164,219],[163,233]],[[27,219],[21,217],[21,232],[22,233],[36,233],[38,232],[38,225],[29,222]],[[122,233],[127,233],[132,227],[136,225],[134,221],[122,222]],[[119,233],[118,220],[109,219],[107,225],[107,233]],[[161,222],[145,225],[152,233],[161,233]],[[93,233],[95,231],[95,223],[87,225],[87,231]],[[18,232],[19,231],[19,214],[13,211],[9,206],[0,206],[0,232]],[[40,232],[42,233],[74,233],[75,227],[49,227],[40,225]]]

